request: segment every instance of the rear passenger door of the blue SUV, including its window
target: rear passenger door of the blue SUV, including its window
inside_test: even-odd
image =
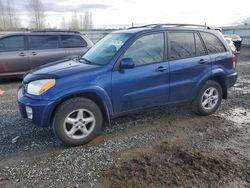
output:
[[[196,32],[168,32],[170,102],[192,99],[200,78],[211,71],[211,61]]]

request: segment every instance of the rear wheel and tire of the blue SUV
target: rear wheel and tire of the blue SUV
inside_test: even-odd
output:
[[[216,112],[222,100],[222,88],[213,80],[208,80],[193,102],[193,111],[200,116]]]

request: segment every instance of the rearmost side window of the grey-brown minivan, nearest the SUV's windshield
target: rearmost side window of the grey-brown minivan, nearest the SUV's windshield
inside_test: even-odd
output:
[[[87,42],[77,35],[61,35],[62,46],[64,48],[86,47]]]

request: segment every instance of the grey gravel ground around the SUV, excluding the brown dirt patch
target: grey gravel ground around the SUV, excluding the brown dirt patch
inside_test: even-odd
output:
[[[199,157],[192,150],[208,159],[227,158],[237,168],[235,173],[219,179],[225,178],[220,187],[250,186],[249,49],[243,49],[239,56],[238,73],[238,82],[230,90],[229,99],[212,116],[196,116],[186,106],[151,109],[113,120],[98,138],[74,148],[64,147],[50,128],[37,128],[21,119],[16,102],[20,80],[4,80],[0,84],[6,91],[0,100],[0,187],[105,187],[115,180],[107,174],[119,171],[124,163],[133,164],[128,156],[138,148],[148,151],[165,142],[177,142],[182,148],[170,147],[168,155],[175,151],[186,154],[183,148],[188,148],[188,155],[195,159]],[[183,174],[185,170],[182,168]],[[207,177],[212,175],[208,171]],[[229,185],[226,180],[231,180],[232,175],[236,180]],[[195,185],[193,181],[185,183]],[[214,184],[204,181],[202,185]]]

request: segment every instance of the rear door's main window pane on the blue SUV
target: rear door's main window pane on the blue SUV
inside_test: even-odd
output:
[[[169,32],[169,57],[173,59],[183,59],[194,57],[195,40],[191,32]]]

